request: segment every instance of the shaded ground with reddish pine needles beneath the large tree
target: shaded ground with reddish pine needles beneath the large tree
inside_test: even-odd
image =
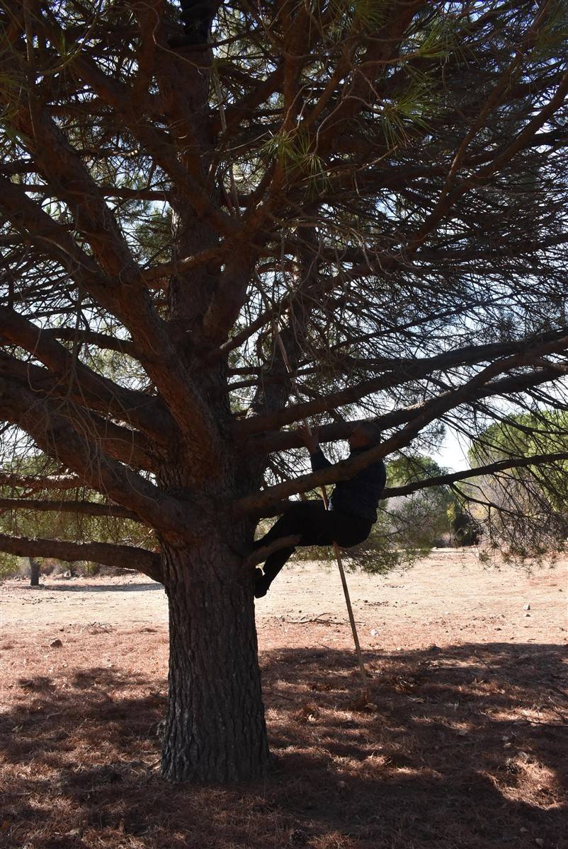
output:
[[[565,849],[561,651],[370,652],[366,694],[349,652],[264,653],[273,767],[230,790],[156,774],[162,679],[20,678],[2,717],[0,845]]]

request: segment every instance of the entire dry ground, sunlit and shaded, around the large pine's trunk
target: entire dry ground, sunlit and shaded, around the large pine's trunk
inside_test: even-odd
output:
[[[350,576],[364,698],[335,571],[285,571],[258,602],[274,762],[234,790],[156,773],[162,588],[5,582],[0,846],[565,849],[565,567]]]

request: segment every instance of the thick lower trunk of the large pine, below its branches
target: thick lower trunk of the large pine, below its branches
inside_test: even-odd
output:
[[[259,779],[268,745],[251,576],[219,537],[190,552],[165,545],[164,561],[170,659],[162,774],[207,784]]]

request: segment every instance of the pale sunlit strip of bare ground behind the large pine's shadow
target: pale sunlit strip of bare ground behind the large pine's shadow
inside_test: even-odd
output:
[[[472,640],[565,644],[566,565],[561,561],[526,575],[506,566],[484,569],[472,552],[439,549],[411,571],[350,575],[361,642],[370,649]],[[45,578],[39,589],[25,580],[4,582],[0,613],[3,633],[92,623],[160,629],[168,624],[163,588],[139,576]],[[349,638],[338,572],[317,563],[288,566],[258,600],[257,617],[261,644],[263,634],[271,644],[302,644],[304,626],[314,620],[331,628],[328,642],[343,644]]]

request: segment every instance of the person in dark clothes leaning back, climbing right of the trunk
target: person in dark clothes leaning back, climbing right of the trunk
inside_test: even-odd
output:
[[[310,452],[313,471],[325,469],[332,463],[321,451],[317,430],[307,427],[298,428],[305,446]],[[357,424],[349,436],[350,457],[355,457],[369,448],[378,445],[381,432],[377,424],[362,422]],[[270,531],[254,543],[255,550],[264,548],[277,539],[298,536],[297,545],[331,545],[338,543],[341,548],[362,543],[371,533],[377,521],[377,505],[387,480],[383,460],[362,469],[348,481],[340,481],[332,492],[329,509],[323,501],[298,501],[287,508]],[[255,571],[254,595],[260,599],[270,588],[275,576],[281,571],[295,548],[279,548],[264,563],[264,572]]]

